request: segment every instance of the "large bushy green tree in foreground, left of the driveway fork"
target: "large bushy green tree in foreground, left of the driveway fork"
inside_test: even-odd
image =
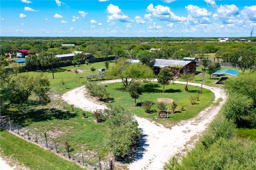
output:
[[[104,109],[104,115],[110,128],[106,146],[117,160],[121,160],[132,152],[132,146],[138,140],[138,123],[130,111],[120,106],[110,105],[108,109]]]

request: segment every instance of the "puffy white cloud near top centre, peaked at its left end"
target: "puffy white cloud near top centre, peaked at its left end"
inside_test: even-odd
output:
[[[120,22],[130,22],[130,18],[124,15],[118,6],[109,4],[107,11],[108,13],[112,14],[108,16],[108,20],[119,20]]]

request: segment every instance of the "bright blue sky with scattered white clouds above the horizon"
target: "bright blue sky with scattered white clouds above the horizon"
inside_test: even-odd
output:
[[[1,0],[0,10],[0,36],[256,36],[256,0]]]

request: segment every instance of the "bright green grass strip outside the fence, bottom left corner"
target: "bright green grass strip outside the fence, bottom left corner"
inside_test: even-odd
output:
[[[12,159],[12,165],[25,166],[31,170],[82,170],[75,163],[64,160],[35,144],[27,142],[0,128],[0,153]]]

